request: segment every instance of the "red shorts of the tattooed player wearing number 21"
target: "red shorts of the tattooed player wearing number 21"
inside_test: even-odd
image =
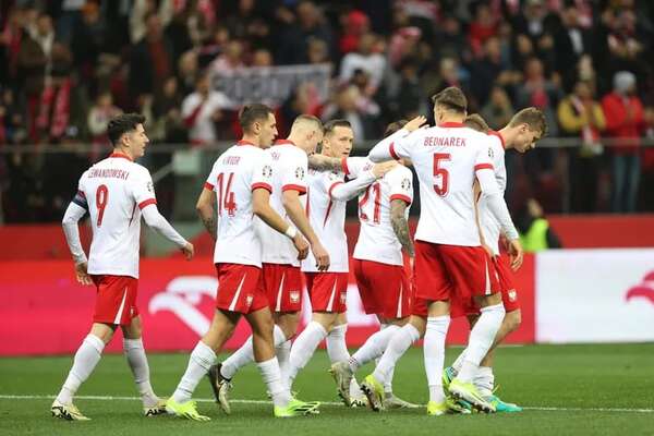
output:
[[[403,266],[354,259],[354,277],[366,314],[385,318],[410,315],[412,288]]]

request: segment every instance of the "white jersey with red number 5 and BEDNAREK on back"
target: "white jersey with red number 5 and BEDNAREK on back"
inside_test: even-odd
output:
[[[479,246],[472,186],[476,170],[493,168],[488,136],[450,122],[419,129],[385,146],[386,155],[410,158],[417,173],[421,214],[415,239]]]

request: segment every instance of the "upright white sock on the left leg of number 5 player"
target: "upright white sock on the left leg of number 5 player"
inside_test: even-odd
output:
[[[424,356],[427,385],[429,386],[429,401],[441,403],[445,401],[443,392],[443,365],[445,364],[445,337],[449,328],[450,317],[429,316],[427,331],[425,332]]]

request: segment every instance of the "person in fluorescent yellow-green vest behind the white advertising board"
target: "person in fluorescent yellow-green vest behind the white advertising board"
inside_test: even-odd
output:
[[[525,253],[537,253],[548,249],[560,249],[561,241],[549,227],[541,204],[530,198],[519,218],[517,227]]]

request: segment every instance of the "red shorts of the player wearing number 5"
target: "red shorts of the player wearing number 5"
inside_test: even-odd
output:
[[[498,292],[499,283],[493,262],[481,246],[432,244],[415,241],[416,304]],[[421,315],[416,306],[414,314]]]

